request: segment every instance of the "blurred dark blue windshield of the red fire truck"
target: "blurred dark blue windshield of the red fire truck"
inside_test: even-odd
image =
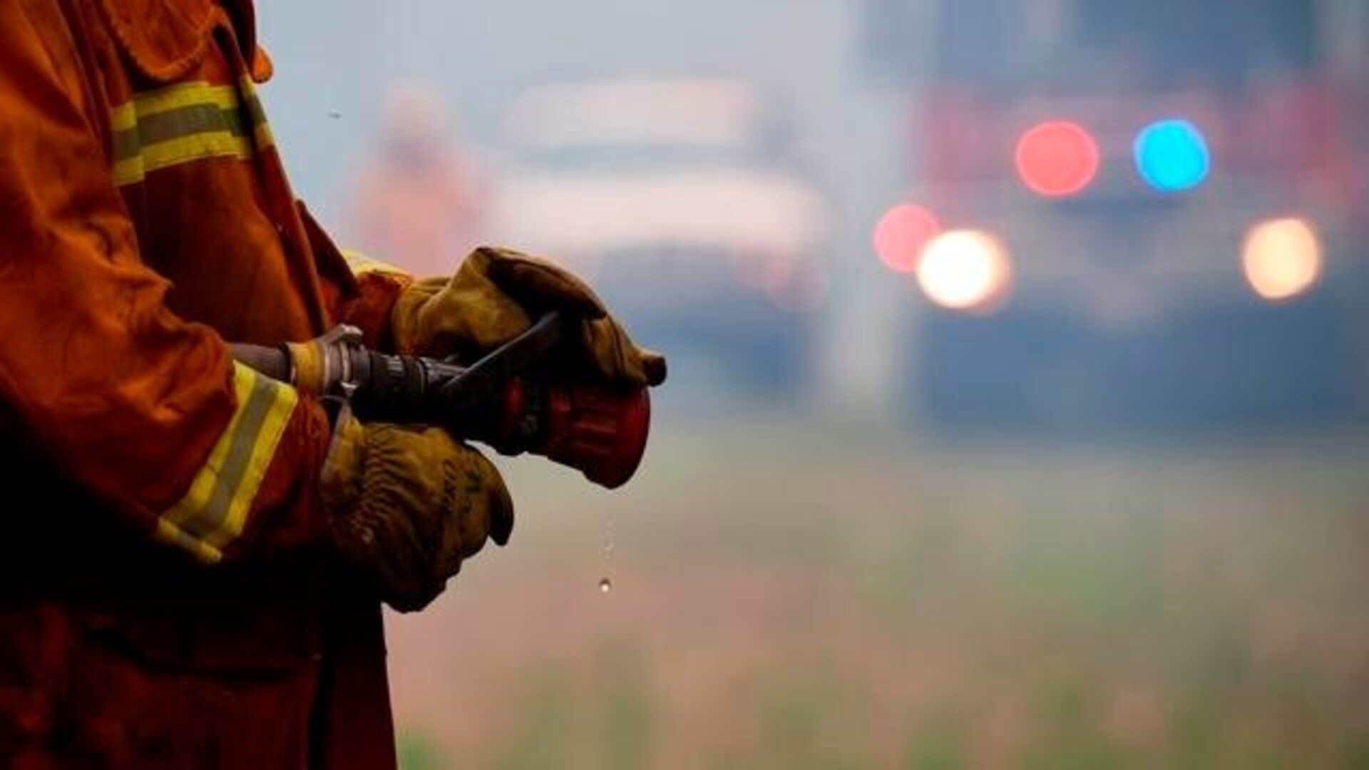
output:
[[[1312,0],[953,0],[935,69],[950,85],[1242,88],[1317,66]]]

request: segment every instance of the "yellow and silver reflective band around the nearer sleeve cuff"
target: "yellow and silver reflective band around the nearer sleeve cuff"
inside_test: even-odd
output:
[[[248,511],[298,403],[296,390],[233,364],[238,410],[190,482],[186,496],[157,519],[156,536],[215,563],[242,534]]]

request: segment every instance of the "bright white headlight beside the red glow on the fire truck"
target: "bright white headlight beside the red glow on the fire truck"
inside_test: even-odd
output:
[[[979,230],[936,236],[917,262],[917,284],[931,301],[951,310],[993,312],[1012,290],[1013,267],[997,238]]]

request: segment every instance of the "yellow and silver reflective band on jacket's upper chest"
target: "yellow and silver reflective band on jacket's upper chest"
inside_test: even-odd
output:
[[[274,144],[266,112],[251,81],[242,92],[203,81],[138,95],[110,115],[114,129],[114,179],[141,182],[159,169],[208,158],[252,156]]]

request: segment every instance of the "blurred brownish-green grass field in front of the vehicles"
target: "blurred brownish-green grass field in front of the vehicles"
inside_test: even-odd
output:
[[[509,548],[390,619],[404,765],[1369,767],[1366,449],[780,415],[660,425],[617,493],[513,460]]]

